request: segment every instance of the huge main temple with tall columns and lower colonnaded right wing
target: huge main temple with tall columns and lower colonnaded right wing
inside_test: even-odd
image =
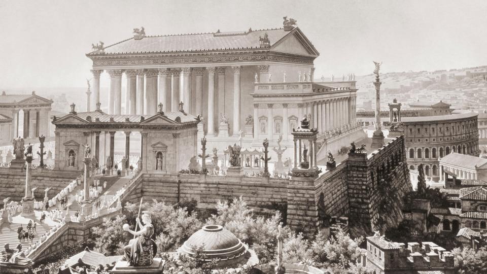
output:
[[[93,45],[87,54],[93,61],[93,105],[103,95],[100,74],[107,72],[109,114],[122,114],[122,100],[130,115],[155,114],[159,102],[163,111],[177,111],[183,102],[189,113],[201,115],[199,137],[207,135],[208,146],[220,151],[235,136],[250,147],[266,138],[273,146],[282,135],[283,145],[291,147],[292,129],[304,115],[319,130],[320,144],[330,131],[356,129],[355,81],[314,83],[318,56],[303,32],[286,21],[276,29],[184,35],[146,36],[134,29],[133,37]]]

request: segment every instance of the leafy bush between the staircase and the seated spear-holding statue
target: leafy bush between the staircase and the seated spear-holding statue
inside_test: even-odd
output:
[[[96,248],[101,253],[107,253],[109,256],[123,254],[123,247],[129,239],[128,233],[122,229],[125,223],[125,215],[122,215],[113,220],[103,218],[100,226],[91,228],[93,236],[97,239]]]

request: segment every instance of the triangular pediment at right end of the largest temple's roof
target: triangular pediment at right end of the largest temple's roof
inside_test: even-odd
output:
[[[298,28],[294,28],[289,33],[274,43],[271,50],[318,56],[320,53],[315,46],[304,36],[303,32]]]

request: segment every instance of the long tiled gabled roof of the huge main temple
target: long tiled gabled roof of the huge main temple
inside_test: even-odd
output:
[[[140,40],[136,40],[132,37],[109,45],[103,48],[102,51],[93,51],[88,55],[261,49],[259,38],[264,37],[266,33],[270,42],[270,49],[274,48],[274,50],[279,50],[275,47],[281,44],[283,40],[286,40],[284,39],[285,37],[294,37],[297,38],[301,44],[305,45],[306,48],[303,49],[302,52],[296,53],[314,56],[319,55],[316,48],[297,27],[291,31],[277,28],[233,32],[146,36]]]

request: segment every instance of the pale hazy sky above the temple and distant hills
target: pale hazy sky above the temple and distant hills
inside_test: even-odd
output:
[[[487,64],[487,1],[0,0],[0,88],[85,87],[91,43],[147,35],[282,27],[290,16],[315,45],[321,75]],[[102,85],[108,84],[104,76]]]

